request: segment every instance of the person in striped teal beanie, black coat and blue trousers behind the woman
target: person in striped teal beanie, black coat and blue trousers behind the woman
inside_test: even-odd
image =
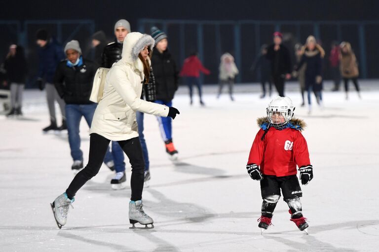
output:
[[[156,103],[172,107],[172,99],[178,90],[179,71],[176,63],[167,49],[168,41],[166,33],[152,27],[152,37],[155,39],[155,47],[152,52],[152,69],[155,77]],[[160,132],[166,146],[166,152],[170,159],[177,158],[178,151],[172,141],[171,119],[157,117]]]

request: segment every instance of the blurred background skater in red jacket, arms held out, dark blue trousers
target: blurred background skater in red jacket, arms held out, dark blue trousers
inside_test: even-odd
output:
[[[199,91],[200,104],[204,106],[204,102],[201,95],[201,82],[200,82],[200,71],[208,75],[211,72],[203,66],[199,58],[197,58],[197,53],[192,53],[183,63],[182,70],[180,71],[180,76],[186,78],[186,84],[189,87],[189,98],[190,104],[192,105],[192,84],[196,84]]]

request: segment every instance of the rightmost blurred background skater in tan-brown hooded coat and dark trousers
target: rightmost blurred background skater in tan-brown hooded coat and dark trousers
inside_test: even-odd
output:
[[[341,48],[341,54],[340,54],[340,71],[341,76],[343,78],[343,82],[345,84],[345,92],[346,92],[346,100],[349,98],[348,91],[349,91],[349,80],[353,81],[353,84],[355,86],[356,91],[358,92],[359,98],[360,95],[360,89],[358,84],[358,76],[359,76],[359,70],[358,70],[358,64],[357,59],[355,58],[355,54],[353,50],[351,49],[351,45],[349,42],[342,42],[340,45]]]

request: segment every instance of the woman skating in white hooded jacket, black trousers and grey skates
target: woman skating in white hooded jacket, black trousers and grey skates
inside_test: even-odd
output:
[[[136,111],[162,117],[169,116],[172,119],[179,114],[174,107],[140,98],[142,86],[149,81],[149,56],[153,46],[154,39],[148,34],[131,32],[125,37],[122,58],[109,70],[103,98],[93,116],[88,164],[76,174],[66,192],[51,204],[59,228],[66,224],[69,206],[74,202],[76,192],[99,172],[111,140],[118,141],[132,166],[130,223],[133,226],[137,222],[145,225],[153,223],[152,218],[142,208],[145,165],[138,139]]]

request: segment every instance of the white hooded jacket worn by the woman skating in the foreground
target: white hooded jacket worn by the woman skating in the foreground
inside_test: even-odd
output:
[[[165,105],[142,100],[144,66],[140,51],[154,39],[140,32],[128,33],[123,42],[122,58],[109,70],[104,95],[97,105],[89,133],[97,133],[112,141],[138,137],[136,111],[167,117]]]

